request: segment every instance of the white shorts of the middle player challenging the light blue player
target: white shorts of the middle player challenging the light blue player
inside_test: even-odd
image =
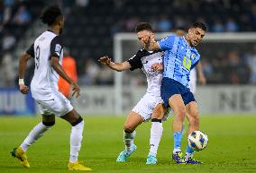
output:
[[[153,109],[160,103],[163,103],[160,96],[156,97],[152,96],[150,93],[146,93],[132,111],[142,116],[144,121],[148,121],[151,119]],[[166,115],[162,117],[163,121],[167,120],[167,117],[169,117],[169,112],[170,108],[168,109]]]

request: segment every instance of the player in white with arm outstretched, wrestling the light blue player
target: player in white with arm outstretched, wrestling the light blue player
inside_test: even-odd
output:
[[[148,51],[149,42],[145,42],[145,39],[153,38],[153,30],[151,24],[147,22],[139,23],[135,29],[139,41],[142,43],[143,48],[139,50],[133,57],[123,63],[114,63],[107,56],[101,57],[99,61],[107,65],[109,68],[121,72],[123,70],[130,69],[142,69],[146,74],[148,89],[142,99],[137,103],[133,110],[128,115],[123,127],[123,142],[125,144],[125,150],[121,151],[117,160],[118,162],[126,161],[129,156],[136,150],[136,145],[133,143],[135,137],[135,129],[142,122],[151,119],[151,149],[148,155],[146,164],[155,164],[157,162],[156,154],[160,143],[160,137],[162,135],[161,119],[155,117],[151,118],[153,109],[162,103],[160,98],[160,83],[162,79],[162,69],[153,70],[152,66],[162,64],[162,51]],[[168,115],[168,114],[166,114]],[[162,115],[160,115],[162,117]],[[165,118],[165,117],[164,117]]]

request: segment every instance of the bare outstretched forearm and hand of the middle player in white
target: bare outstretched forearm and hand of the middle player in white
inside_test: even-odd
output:
[[[106,65],[117,72],[122,72],[123,70],[127,70],[131,68],[131,65],[129,62],[124,61],[123,63],[114,63],[111,61],[111,58],[109,58],[108,56],[103,56],[99,58],[98,61],[101,64]]]

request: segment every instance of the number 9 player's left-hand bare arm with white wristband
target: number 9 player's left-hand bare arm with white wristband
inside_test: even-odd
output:
[[[29,88],[24,84],[24,75],[26,72],[26,67],[27,67],[27,62],[31,58],[31,55],[28,53],[24,53],[23,56],[20,57],[20,62],[19,62],[19,87],[20,91],[23,94],[27,94],[29,91]]]

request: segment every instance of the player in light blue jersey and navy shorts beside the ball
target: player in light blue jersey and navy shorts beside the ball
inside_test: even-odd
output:
[[[195,22],[188,29],[187,35],[178,37],[171,35],[156,42],[151,39],[150,49],[165,51],[163,60],[164,71],[161,83],[161,98],[167,108],[172,108],[175,117],[173,121],[174,150],[172,159],[177,163],[200,164],[193,159],[194,151],[187,145],[184,159],[180,150],[182,125],[187,116],[189,127],[187,134],[199,130],[199,115],[197,102],[193,93],[188,89],[190,71],[198,64],[200,55],[197,45],[206,35],[206,25]]]

